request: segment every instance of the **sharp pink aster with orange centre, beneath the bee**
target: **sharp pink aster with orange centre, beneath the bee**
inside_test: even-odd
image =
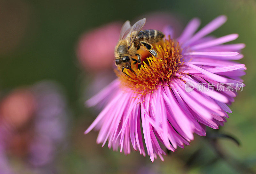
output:
[[[128,77],[117,69],[118,78],[87,101],[104,108],[85,133],[96,128],[102,147],[108,141],[109,148],[125,155],[133,148],[145,156],[147,150],[153,162],[157,156],[163,160],[163,146],[184,148],[194,133],[206,135],[205,126],[223,125],[231,113],[226,104],[243,89],[240,77],[246,69],[235,62],[243,57],[245,45],[224,44],[238,34],[207,36],[226,20],[219,16],[196,32],[200,20],[192,19],[178,38],[163,30],[165,39],[153,44],[157,58],[139,50],[148,56],[142,57],[140,70],[132,66],[136,75],[126,70]]]

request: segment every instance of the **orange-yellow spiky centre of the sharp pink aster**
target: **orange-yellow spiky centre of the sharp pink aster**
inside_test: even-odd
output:
[[[142,63],[140,70],[138,64],[132,64],[136,75],[129,69],[124,69],[124,72],[130,77],[125,75],[120,68],[115,71],[121,85],[145,95],[157,89],[162,82],[172,80],[181,65],[180,58],[182,56],[179,42],[173,41],[169,37],[169,39],[153,44],[153,47],[157,51],[157,57],[149,57],[151,55],[143,48],[138,50]]]

